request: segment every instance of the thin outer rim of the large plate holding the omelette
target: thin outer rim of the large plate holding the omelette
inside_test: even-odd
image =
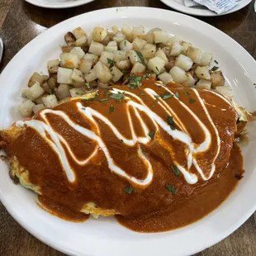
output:
[[[183,17],[187,17],[188,19],[192,19],[193,21],[196,21],[198,22],[198,24],[203,24],[203,26],[211,26],[209,24],[207,24],[206,22],[204,21],[200,21],[200,20],[197,20],[197,18],[195,17],[190,17],[190,16],[187,16],[183,13],[178,13],[178,12],[173,12],[173,11],[169,11],[169,10],[165,10],[165,9],[159,9],[159,8],[152,8],[152,7],[111,7],[111,8],[106,8],[106,9],[99,9],[97,11],[93,11],[93,12],[86,12],[86,13],[83,13],[83,14],[80,14],[78,16],[75,16],[75,17],[71,17],[69,18],[68,20],[65,20],[65,21],[61,21],[59,22],[58,24],[56,24],[55,26],[51,27],[50,29],[44,31],[43,33],[41,33],[40,35],[36,36],[33,40],[31,40],[28,44],[26,44],[24,47],[22,47],[22,49],[17,53],[17,55],[15,55],[11,60],[10,62],[7,64],[7,66],[5,67],[5,69],[2,70],[2,73],[0,75],[0,83],[1,83],[1,80],[2,80],[2,77],[6,76],[7,73],[9,72],[9,69],[12,69],[12,65],[15,64],[15,62],[17,61],[17,59],[19,58],[20,55],[23,54],[23,52],[26,51],[26,49],[29,49],[30,45],[32,44],[35,44],[37,42],[37,40],[40,40],[41,36],[45,36],[45,34],[47,34],[48,31],[50,30],[53,30],[56,28],[56,26],[60,26],[62,23],[64,22],[67,22],[67,21],[72,21],[72,20],[75,20],[75,19],[78,19],[80,17],[83,17],[83,16],[86,16],[88,15],[88,13],[92,13],[92,14],[95,14],[97,12],[112,12],[111,14],[113,13],[116,13],[116,11],[118,10],[123,10],[123,9],[126,9],[128,10],[128,12],[132,12],[132,10],[134,9],[145,9],[145,11],[149,11],[149,12],[165,12],[165,13],[168,13],[168,14],[174,14],[174,15],[180,15],[180,16],[183,16]],[[226,38],[226,40],[230,40],[230,42],[232,42],[232,44],[234,44],[236,47],[239,48],[239,50],[241,51],[241,53],[243,52],[244,55],[247,55],[247,58],[250,59],[250,61],[252,61],[254,64],[256,63],[255,62],[255,59],[253,58],[252,55],[249,55],[249,52],[247,50],[244,49],[244,47],[242,47],[241,45],[239,45],[239,43],[237,43],[235,40],[233,40],[230,36],[226,35],[224,32],[216,29],[216,27],[214,26],[211,26],[211,29],[213,29],[214,31],[216,31],[217,33],[219,33],[221,36],[224,36]],[[25,230],[27,230],[29,233],[31,233],[31,235],[34,235],[37,239],[40,239],[40,241],[42,241],[43,243],[45,244],[48,244],[50,245],[50,247],[54,248],[54,249],[57,249],[59,250],[60,252],[63,252],[64,254],[75,254],[77,255],[75,252],[72,252],[70,251],[69,249],[67,248],[60,248],[58,247],[58,244],[55,242],[55,240],[52,240],[52,239],[48,239],[47,237],[43,236],[42,234],[38,234],[36,233],[36,230],[32,230],[32,227],[31,225],[28,225],[26,221],[22,221],[21,219],[19,219],[19,216],[17,214],[17,212],[13,211],[12,210],[12,206],[10,206],[8,204],[8,202],[4,199],[3,195],[2,195],[2,192],[1,192],[1,188],[0,188],[0,199],[2,201],[2,204],[3,206],[5,206],[5,208],[7,209],[7,211],[9,212],[9,214],[15,219],[17,220],[17,222],[19,223],[19,225],[21,225]],[[228,200],[228,199],[227,199]],[[193,251],[190,251],[189,254],[196,254],[198,252],[200,252],[201,250],[203,249],[206,249],[207,247],[210,247],[218,242],[220,242],[220,240],[222,239],[225,239],[225,237],[227,237],[228,235],[230,235],[231,233],[233,233],[235,230],[237,230],[239,228],[240,225],[243,225],[244,222],[246,220],[249,219],[249,216],[251,216],[254,211],[256,210],[256,201],[254,202],[254,205],[250,206],[250,210],[247,211],[246,214],[244,214],[242,217],[239,217],[239,221],[235,224],[235,225],[232,225],[228,230],[225,231],[225,233],[222,233],[218,238],[216,239],[212,239],[211,243],[208,243],[207,245],[204,245],[204,246],[197,246],[197,249],[194,249]],[[201,221],[201,220],[198,220],[198,221]],[[197,222],[198,222],[197,221]],[[60,244],[59,244],[60,245]],[[182,254],[182,255],[188,255],[188,254]]]

